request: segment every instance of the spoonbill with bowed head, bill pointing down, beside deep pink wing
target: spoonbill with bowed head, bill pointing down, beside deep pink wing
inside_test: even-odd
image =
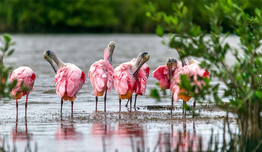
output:
[[[174,58],[168,58],[166,60],[166,65],[161,65],[155,69],[153,73],[153,78],[157,79],[159,82],[159,87],[162,89],[170,89],[171,83],[173,83],[173,78],[175,77],[175,70],[179,67],[182,67],[182,63],[178,62]],[[171,99],[171,113],[173,109],[173,95]]]

